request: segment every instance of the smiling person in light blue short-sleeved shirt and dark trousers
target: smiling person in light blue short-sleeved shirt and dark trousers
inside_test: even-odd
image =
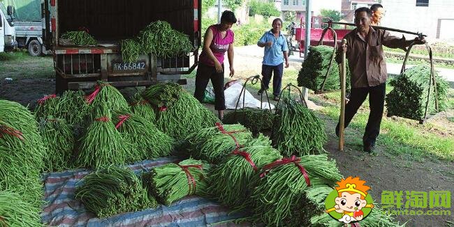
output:
[[[263,34],[262,38],[258,40],[259,47],[265,47],[265,54],[262,62],[262,84],[258,91],[261,95],[263,91],[268,90],[268,85],[274,72],[274,79],[272,80],[272,93],[274,100],[279,99],[281,93],[282,72],[285,67],[288,68],[288,46],[284,34],[281,33],[282,20],[276,18],[272,21],[272,29]]]

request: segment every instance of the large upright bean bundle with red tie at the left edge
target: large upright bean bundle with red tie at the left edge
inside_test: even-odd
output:
[[[17,191],[41,207],[46,149],[31,112],[17,102],[0,100],[0,190]]]

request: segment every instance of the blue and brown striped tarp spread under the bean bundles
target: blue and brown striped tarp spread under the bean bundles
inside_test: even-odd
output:
[[[149,171],[177,159],[166,157],[132,164],[136,173]],[[166,207],[140,212],[117,214],[108,219],[98,219],[85,210],[82,203],[75,201],[76,184],[90,171],[78,169],[59,173],[45,173],[45,201],[41,220],[49,226],[210,226],[222,221],[240,218],[240,214],[228,214],[228,208],[206,198],[187,196]],[[216,226],[233,226],[226,222]]]

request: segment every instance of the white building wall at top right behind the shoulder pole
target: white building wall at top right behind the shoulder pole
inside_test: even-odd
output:
[[[453,29],[445,25],[451,24],[445,19],[454,19],[454,0],[430,0],[429,6],[416,6],[416,0],[382,0],[381,5],[386,10],[382,26],[422,32],[428,39],[437,38],[438,29],[441,29],[444,38],[454,38],[446,37],[453,33],[444,32]]]

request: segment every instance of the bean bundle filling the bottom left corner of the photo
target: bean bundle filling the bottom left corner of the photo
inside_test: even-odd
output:
[[[40,212],[39,207],[24,201],[15,191],[0,190],[0,226],[44,226]]]

